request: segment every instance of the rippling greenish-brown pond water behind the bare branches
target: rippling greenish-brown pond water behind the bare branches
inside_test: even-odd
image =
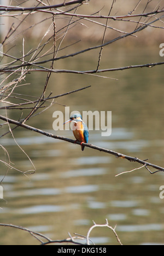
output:
[[[61,60],[56,68],[95,69],[97,53],[78,56],[72,61]],[[93,57],[94,55],[94,57]],[[159,45],[153,49],[104,49],[101,68],[123,67],[160,62]],[[91,85],[91,88],[57,99],[57,103],[70,107],[70,111],[112,111],[112,135],[102,137],[101,131],[90,131],[89,143],[122,154],[149,159],[164,167],[164,108],[163,66],[129,69],[103,73],[114,79],[95,75],[53,74],[49,91],[53,95]],[[31,83],[24,94],[40,95],[45,83],[45,73],[27,75]],[[19,89],[22,92],[22,88]],[[27,124],[59,136],[74,138],[72,131],[54,131],[52,114],[65,113],[65,107],[54,104],[31,119]],[[20,112],[21,113],[21,112]],[[8,112],[9,118],[16,114]],[[5,132],[5,127],[1,132]],[[30,156],[36,172],[26,176],[9,170],[3,180],[0,201],[0,222],[21,225],[41,232],[51,239],[62,240],[68,232],[86,236],[94,222],[117,225],[116,231],[124,245],[164,244],[164,199],[160,187],[164,173],[151,175],[141,168],[118,177],[140,165],[117,159],[113,155],[58,141],[32,131],[13,131],[16,142]],[[11,162],[21,171],[33,166],[10,135],[1,138],[0,144],[10,155]],[[2,157],[4,152],[1,150]],[[1,164],[1,179],[5,174]],[[107,228],[91,232],[97,245],[117,244]],[[0,228],[1,245],[35,245],[39,242],[25,231]]]

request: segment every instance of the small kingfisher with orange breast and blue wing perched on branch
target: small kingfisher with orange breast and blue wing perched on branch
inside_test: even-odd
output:
[[[81,142],[81,150],[83,151],[85,148],[85,146],[83,146],[83,143],[88,142],[89,130],[86,124],[83,122],[80,114],[71,115],[70,119],[66,121],[64,125],[70,122],[73,122],[73,135],[77,139],[77,141]]]

